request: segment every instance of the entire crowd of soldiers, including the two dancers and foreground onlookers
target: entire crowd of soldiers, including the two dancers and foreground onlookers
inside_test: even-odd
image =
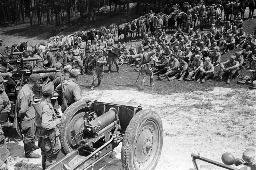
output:
[[[238,19],[241,20],[240,16]],[[159,20],[159,22],[162,22]],[[37,47],[36,53],[25,50],[25,58],[36,57],[39,60],[31,61],[30,65],[38,68],[56,67],[59,72],[45,74],[31,74],[29,81],[24,85],[17,96],[16,110],[17,124],[24,135],[24,151],[27,158],[39,158],[36,149],[41,148],[43,169],[51,166],[60,152],[60,132],[57,125],[58,104],[64,112],[69,105],[80,100],[80,88],[78,76],[92,72],[93,80],[91,90],[100,86],[104,75],[104,66],[108,67],[111,73],[111,66],[116,65],[117,73],[120,73],[119,65],[129,64],[140,71],[142,82],[140,89],[144,89],[147,75],[150,76],[150,86],[154,86],[154,75],[159,81],[196,81],[204,83],[214,77],[214,69],[220,67],[218,76],[214,81],[223,81],[223,75],[227,74],[229,84],[239,74],[239,69],[249,69],[250,75],[246,75],[242,81],[237,83],[251,84],[249,89],[256,88],[255,67],[256,67],[256,35],[246,36],[242,27],[243,22],[238,25],[231,25],[227,22],[222,29],[217,29],[215,20],[212,20],[212,27],[207,33],[199,33],[190,28],[187,33],[179,29],[172,37],[168,37],[159,27],[155,37],[144,36],[138,49],[132,45],[126,48],[120,42],[114,44],[113,34],[107,32],[105,36],[96,36],[87,42],[82,41],[79,33],[76,32],[76,39],[73,47],[58,45],[57,48]],[[239,30],[238,30],[239,27]],[[203,30],[203,28],[202,28]],[[81,35],[81,34],[80,34]],[[0,53],[6,53],[5,47],[0,39]],[[41,45],[44,45],[42,42]],[[221,52],[220,46],[224,45]],[[221,54],[233,50],[236,45],[240,51],[236,56],[231,55],[225,62],[221,62]],[[117,50],[117,52],[115,51]],[[45,51],[45,53],[43,53]],[[140,69],[139,69],[140,68]],[[12,72],[16,68],[9,64],[7,56],[1,56],[0,61],[0,169],[8,169],[7,158],[9,151],[4,140],[2,128],[10,127],[13,124],[8,122],[8,114],[11,111],[11,104],[6,92],[11,92],[15,82],[11,79]],[[42,113],[36,114],[33,107],[35,97],[33,89],[40,80],[46,82],[42,86],[43,98],[40,100]],[[61,83],[63,81],[63,83]],[[54,91],[59,95],[58,102],[51,103]],[[35,127],[38,130],[35,134]],[[39,137],[38,146],[35,145],[35,135]],[[50,146],[51,145],[51,146]]]

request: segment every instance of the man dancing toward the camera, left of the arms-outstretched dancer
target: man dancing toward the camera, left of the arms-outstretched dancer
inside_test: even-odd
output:
[[[100,86],[101,78],[104,75],[104,64],[107,64],[106,57],[103,54],[103,51],[101,49],[98,50],[98,55],[95,55],[94,59],[90,62],[90,65],[96,62],[96,66],[92,72],[92,87],[91,90],[93,90],[95,86],[96,79],[98,79],[98,85]]]

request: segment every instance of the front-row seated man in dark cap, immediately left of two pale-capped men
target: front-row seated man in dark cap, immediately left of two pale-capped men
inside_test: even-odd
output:
[[[168,81],[172,81],[176,78],[179,78],[178,81],[183,80],[184,77],[188,76],[188,63],[185,61],[185,58],[183,56],[180,57],[180,67],[178,68],[178,72],[173,76],[173,77],[169,77],[168,75],[166,75],[166,79]]]

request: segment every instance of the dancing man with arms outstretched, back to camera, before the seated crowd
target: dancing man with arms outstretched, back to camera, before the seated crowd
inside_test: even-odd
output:
[[[156,53],[156,49],[153,49],[152,51],[148,51],[149,46],[144,46],[144,52],[140,54],[135,54],[135,55],[127,55],[127,57],[132,57],[133,59],[140,58],[142,65],[141,65],[141,85],[140,89],[144,90],[144,84],[147,78],[147,74],[150,76],[150,87],[153,87],[154,84],[154,79],[153,79],[153,69],[151,68],[150,65],[150,57]]]

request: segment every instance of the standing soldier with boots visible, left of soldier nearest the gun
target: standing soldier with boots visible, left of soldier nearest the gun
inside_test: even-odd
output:
[[[35,103],[35,96],[33,90],[38,86],[41,76],[39,74],[31,74],[29,76],[28,84],[25,84],[19,91],[16,100],[15,110],[18,114],[18,124],[22,129],[24,135],[24,150],[26,158],[39,158],[40,155],[33,151],[39,149],[35,145],[35,127],[36,127],[36,111],[32,104]],[[15,115],[15,118],[17,116]],[[16,127],[14,127],[16,128]]]

